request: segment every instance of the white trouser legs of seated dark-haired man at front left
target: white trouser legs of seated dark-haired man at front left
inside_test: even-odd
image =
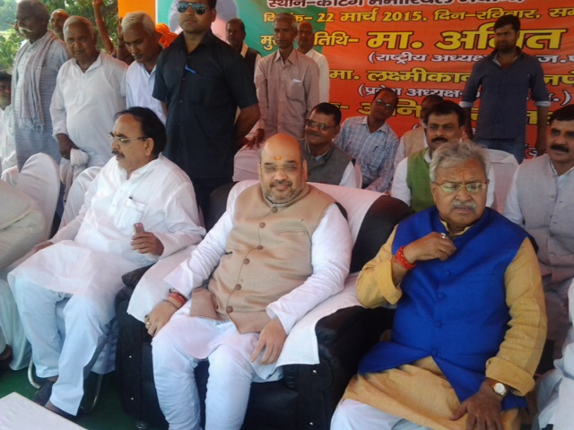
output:
[[[13,294],[32,345],[37,374],[57,376],[50,401],[76,415],[83,398],[83,380],[108,339],[111,323],[100,323],[99,307],[90,297],[58,293],[18,279]],[[57,322],[57,305],[63,300],[67,300],[65,333],[58,330]]]

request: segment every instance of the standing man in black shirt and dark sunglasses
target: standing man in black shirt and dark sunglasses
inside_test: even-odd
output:
[[[164,154],[191,178],[204,216],[209,194],[231,181],[236,142],[259,119],[255,84],[243,58],[211,30],[216,4],[178,2],[182,32],[161,53],[153,88],[167,116]]]

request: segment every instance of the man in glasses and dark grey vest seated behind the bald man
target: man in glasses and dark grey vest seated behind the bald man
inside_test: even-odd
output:
[[[361,167],[333,139],[341,130],[341,110],[331,103],[313,107],[305,122],[303,150],[309,182],[361,188]]]

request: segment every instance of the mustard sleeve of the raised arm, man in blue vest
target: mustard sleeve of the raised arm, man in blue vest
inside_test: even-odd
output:
[[[396,227],[378,254],[364,265],[357,279],[357,299],[365,307],[395,305],[403,295],[400,285],[393,284],[391,245],[395,240]]]

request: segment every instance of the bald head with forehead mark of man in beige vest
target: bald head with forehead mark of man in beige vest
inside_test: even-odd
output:
[[[307,184],[307,162],[290,134],[274,134],[259,153],[259,180],[265,198],[274,204],[291,202]]]

